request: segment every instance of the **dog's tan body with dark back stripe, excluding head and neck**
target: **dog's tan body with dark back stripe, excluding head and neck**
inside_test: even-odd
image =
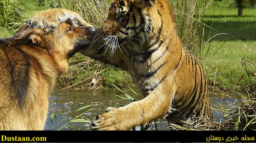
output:
[[[0,130],[43,130],[47,83],[29,48],[0,39]]]

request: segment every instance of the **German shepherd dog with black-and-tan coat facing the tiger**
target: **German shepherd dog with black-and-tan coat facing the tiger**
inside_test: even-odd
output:
[[[74,53],[90,46],[95,29],[61,23],[57,29],[28,25],[0,39],[0,130],[43,130],[48,95]]]

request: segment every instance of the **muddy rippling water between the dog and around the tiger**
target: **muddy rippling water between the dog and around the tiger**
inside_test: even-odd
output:
[[[126,105],[130,100],[122,99],[120,97],[115,97],[114,94],[120,95],[121,93],[116,90],[109,89],[99,89],[99,90],[55,90],[49,97],[50,106],[48,110],[48,118],[46,121],[45,130],[58,130],[67,124],[76,116],[86,112],[83,116],[84,119],[93,120],[97,114],[102,114],[107,107],[115,107]],[[142,97],[135,95],[134,93],[129,93],[136,100],[142,99]],[[230,104],[235,102],[235,99],[230,99],[227,96],[221,95],[210,95],[212,106],[218,104]],[[116,102],[115,102],[116,100]],[[77,109],[87,106],[96,105],[86,108],[84,110],[77,111]],[[92,109],[91,109],[92,108]],[[91,109],[91,110],[90,110]],[[55,114],[57,119],[54,117],[51,122],[50,116]],[[220,117],[220,113],[215,111],[215,120],[223,120]],[[58,120],[58,122],[57,122]],[[157,130],[170,130],[166,120],[161,119],[156,122]],[[67,124],[67,127],[71,130],[90,130],[90,123],[86,122],[71,122]],[[69,130],[66,127],[61,128],[61,130]],[[139,130],[140,126],[136,127]],[[156,130],[155,124],[151,126],[148,130]]]

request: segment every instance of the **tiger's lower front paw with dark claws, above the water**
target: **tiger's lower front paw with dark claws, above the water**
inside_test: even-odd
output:
[[[107,108],[106,113],[97,115],[92,122],[91,130],[130,130],[133,126],[128,125],[129,119],[123,110]]]

